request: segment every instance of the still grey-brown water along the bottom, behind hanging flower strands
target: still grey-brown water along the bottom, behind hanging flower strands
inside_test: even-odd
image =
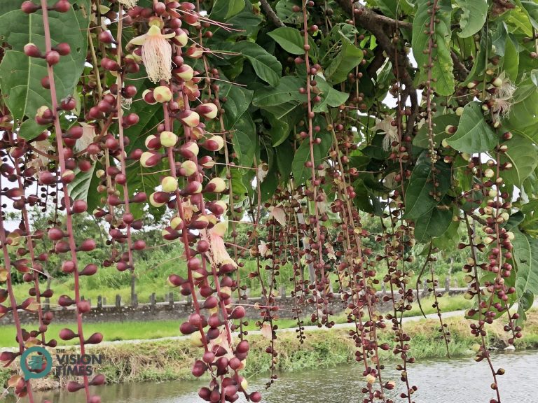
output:
[[[538,351],[498,353],[493,355],[493,363],[495,369],[506,369],[506,374],[499,376],[503,403],[538,403]],[[395,370],[387,368],[384,375],[384,380],[396,381],[401,386]],[[355,403],[361,401],[360,391],[364,385],[361,378],[358,365],[341,365],[280,374],[269,390],[263,390],[265,377],[251,379],[249,390],[257,388],[263,392],[266,403]],[[409,379],[418,386],[414,395],[417,403],[487,403],[494,397],[487,363],[474,362],[472,358],[423,360],[410,366]],[[102,386],[98,393],[103,403],[199,403],[196,391],[203,385],[205,383],[185,381],[130,383]],[[37,397],[38,402],[45,398],[53,403],[84,401],[82,392],[56,391],[40,393]],[[395,399],[395,402],[401,401]]]

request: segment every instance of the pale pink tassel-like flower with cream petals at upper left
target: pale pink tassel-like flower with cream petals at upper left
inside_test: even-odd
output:
[[[130,41],[132,45],[142,45],[142,62],[146,66],[148,78],[153,83],[172,78],[172,46],[167,39],[175,34],[163,34],[157,25],[152,25],[146,34]]]

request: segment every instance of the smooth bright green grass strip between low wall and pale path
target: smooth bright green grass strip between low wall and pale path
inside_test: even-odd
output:
[[[425,313],[435,313],[435,309],[432,304],[434,299],[427,297],[421,299],[422,309]],[[471,307],[471,302],[467,299],[464,299],[462,295],[455,295],[453,297],[443,297],[439,298],[439,306],[441,311],[459,311],[462,309],[468,309]],[[420,309],[418,304],[413,306],[411,311],[406,311],[404,316],[420,316]],[[313,325],[310,323],[310,317],[304,318],[305,325]],[[332,320],[335,323],[346,323],[347,316],[344,313],[338,313],[338,315],[333,316]],[[254,320],[250,320],[247,330],[256,330],[257,327],[254,325]],[[139,340],[139,339],[160,339],[162,337],[174,337],[179,336],[179,320],[155,320],[155,321],[145,321],[145,322],[103,322],[103,323],[85,323],[84,332],[85,334],[92,334],[95,332],[100,332],[104,336],[104,341],[120,341],[120,340]],[[281,329],[286,329],[288,327],[295,327],[297,325],[296,320],[291,319],[279,319],[277,321],[278,326]],[[51,323],[48,327],[48,337],[56,338],[64,327],[74,327],[75,324],[71,323]],[[29,324],[24,326],[27,330],[36,329],[38,325]],[[0,326],[0,348],[1,347],[15,347],[17,346],[15,342],[14,335],[16,334],[14,325],[5,325]],[[70,341],[61,341],[62,345],[77,344],[76,339]]]

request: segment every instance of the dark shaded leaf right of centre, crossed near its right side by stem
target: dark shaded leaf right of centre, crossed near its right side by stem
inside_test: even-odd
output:
[[[435,179],[439,183],[436,192],[441,193],[439,197],[442,199],[450,188],[450,167],[439,161],[436,162],[436,171]],[[439,201],[430,196],[432,192],[434,192],[432,162],[427,157],[427,152],[424,152],[418,158],[409,178],[406,189],[406,213],[403,217],[416,220],[437,206]]]

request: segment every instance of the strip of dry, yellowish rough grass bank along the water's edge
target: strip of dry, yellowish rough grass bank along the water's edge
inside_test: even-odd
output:
[[[450,355],[458,357],[472,355],[476,339],[469,334],[469,323],[462,318],[448,318],[452,341],[449,344]],[[411,355],[417,360],[425,358],[444,358],[446,348],[439,339],[439,323],[436,320],[420,320],[406,323],[405,331],[411,336]],[[538,311],[528,315],[524,336],[518,340],[517,348],[538,348]],[[500,324],[488,328],[490,347],[506,346],[509,337]],[[390,330],[380,334],[380,343],[393,344],[394,337]],[[265,353],[268,340],[259,335],[249,337],[251,351],[244,369],[245,376],[256,376],[267,372],[270,356]],[[356,350],[347,330],[319,330],[307,333],[304,344],[300,344],[295,332],[280,332],[276,341],[279,352],[277,369],[280,371],[298,371],[301,369],[331,367],[351,362]],[[193,348],[188,340],[147,341],[142,344],[115,344],[95,346],[92,353],[104,358],[99,372],[106,375],[109,383],[140,381],[191,380],[191,366],[199,357],[200,350]],[[382,358],[394,360],[390,352],[382,351]],[[8,372],[0,372],[4,380]],[[65,379],[48,379],[41,382],[43,388],[59,386]]]

